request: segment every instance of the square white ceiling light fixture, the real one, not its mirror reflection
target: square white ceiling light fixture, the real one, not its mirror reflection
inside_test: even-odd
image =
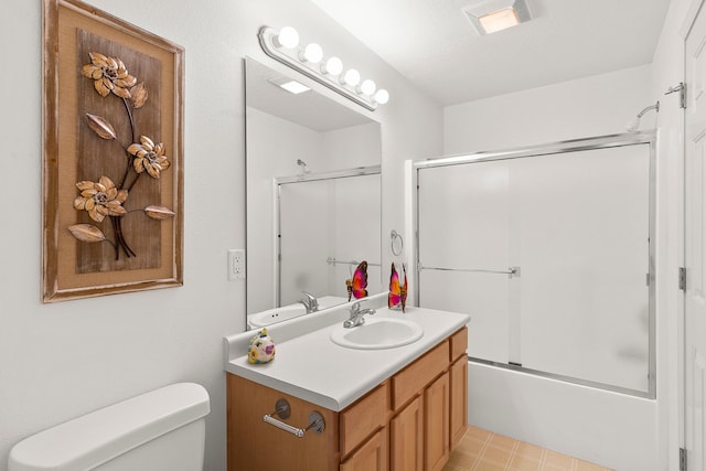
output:
[[[463,8],[479,34],[491,34],[532,20],[526,0],[484,0]]]

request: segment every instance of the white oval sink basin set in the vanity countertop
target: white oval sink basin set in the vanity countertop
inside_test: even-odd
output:
[[[406,319],[365,318],[365,323],[356,328],[333,328],[331,341],[349,349],[382,350],[410,344],[421,335],[421,327]]]

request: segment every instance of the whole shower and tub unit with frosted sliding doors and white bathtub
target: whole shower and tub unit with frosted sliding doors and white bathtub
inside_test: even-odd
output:
[[[407,274],[418,306],[471,314],[471,425],[656,469],[655,143],[407,162]]]

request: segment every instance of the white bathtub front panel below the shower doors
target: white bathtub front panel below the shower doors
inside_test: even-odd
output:
[[[661,471],[657,404],[469,361],[469,425],[617,471]]]

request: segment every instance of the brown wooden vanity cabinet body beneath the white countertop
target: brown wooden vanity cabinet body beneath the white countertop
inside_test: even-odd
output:
[[[441,470],[466,430],[467,344],[462,328],[342,411],[228,373],[228,471]],[[284,421],[304,428],[315,410],[323,432],[297,438],[266,424],[280,398],[291,406]]]

